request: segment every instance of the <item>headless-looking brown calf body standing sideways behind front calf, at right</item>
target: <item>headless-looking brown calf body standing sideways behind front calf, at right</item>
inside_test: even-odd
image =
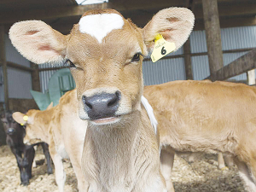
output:
[[[160,131],[167,186],[176,151],[233,155],[247,190],[256,191],[256,89],[246,84],[176,81],[147,86]],[[168,179],[169,178],[169,179]]]

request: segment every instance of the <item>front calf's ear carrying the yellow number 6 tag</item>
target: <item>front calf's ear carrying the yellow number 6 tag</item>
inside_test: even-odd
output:
[[[169,8],[160,10],[143,28],[143,39],[148,51],[154,49],[157,33],[166,41],[175,43],[176,51],[189,38],[195,22],[194,14],[186,8]]]

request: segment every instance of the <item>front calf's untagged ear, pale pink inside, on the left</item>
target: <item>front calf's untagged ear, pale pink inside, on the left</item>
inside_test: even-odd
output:
[[[66,55],[67,36],[41,20],[15,23],[9,30],[9,38],[21,55],[37,64],[61,63]]]

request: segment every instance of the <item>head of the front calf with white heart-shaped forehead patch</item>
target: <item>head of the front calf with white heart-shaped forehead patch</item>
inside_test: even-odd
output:
[[[143,57],[160,33],[176,49],[194,26],[189,9],[163,9],[142,29],[113,9],[86,12],[67,36],[39,20],[16,23],[9,31],[15,48],[42,64],[68,63],[75,79],[79,116],[113,124],[140,110]]]

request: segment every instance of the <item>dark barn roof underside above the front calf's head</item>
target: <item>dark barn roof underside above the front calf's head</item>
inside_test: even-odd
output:
[[[75,0],[1,0],[0,25],[3,24],[8,30],[19,20],[44,20],[50,25],[54,23],[55,29],[67,33],[84,11],[107,7],[86,6],[78,5]],[[125,18],[131,18],[141,27],[160,9],[169,7],[191,7],[195,13],[195,29],[204,28],[201,0],[108,0],[108,8],[119,10]],[[221,27],[256,25],[256,1],[218,0],[218,14]]]

